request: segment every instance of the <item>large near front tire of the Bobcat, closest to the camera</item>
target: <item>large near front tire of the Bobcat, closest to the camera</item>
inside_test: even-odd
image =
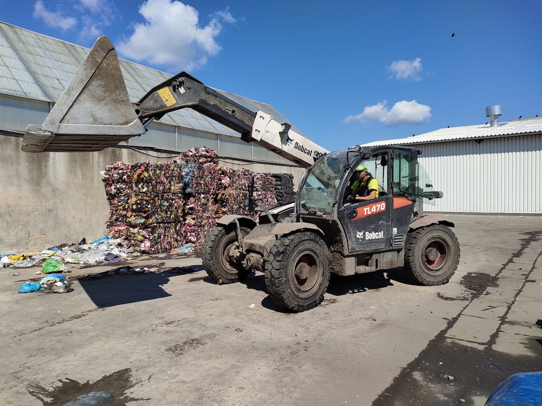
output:
[[[277,304],[295,312],[318,306],[330,283],[324,240],[310,232],[280,237],[269,251],[265,275],[267,292]]]

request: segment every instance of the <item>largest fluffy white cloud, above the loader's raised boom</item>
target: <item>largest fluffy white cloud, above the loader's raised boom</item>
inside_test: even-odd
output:
[[[134,24],[134,32],[117,46],[125,58],[163,66],[177,73],[207,63],[222,47],[215,38],[222,22],[236,19],[228,9],[218,11],[205,27],[199,24],[198,11],[190,5],[171,0],[147,0],[139,8],[145,23]]]

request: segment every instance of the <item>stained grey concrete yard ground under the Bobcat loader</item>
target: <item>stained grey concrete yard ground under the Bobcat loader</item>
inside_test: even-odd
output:
[[[94,391],[98,405],[106,391],[130,406],[481,406],[509,375],[542,369],[542,219],[448,219],[461,260],[447,285],[401,269],[336,277],[304,313],[275,305],[260,272],[217,285],[198,257],[127,263],[164,262],[159,273],[72,267],[62,294],[20,294],[40,268],[3,269],[0,404]]]

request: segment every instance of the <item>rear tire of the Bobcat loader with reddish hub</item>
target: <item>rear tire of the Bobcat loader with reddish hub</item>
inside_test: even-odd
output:
[[[408,235],[403,268],[422,285],[443,285],[455,273],[460,255],[454,232],[447,226],[434,224]]]

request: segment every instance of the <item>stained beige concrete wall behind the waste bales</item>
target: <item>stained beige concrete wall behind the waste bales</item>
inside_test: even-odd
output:
[[[101,171],[114,162],[161,162],[125,148],[93,153],[21,151],[22,138],[0,135],[0,253],[41,251],[62,243],[78,243],[107,234],[109,216]],[[171,156],[172,154],[152,155]],[[236,165],[243,164],[243,165]],[[250,164],[228,159],[220,164],[255,172],[294,174],[300,168]]]

